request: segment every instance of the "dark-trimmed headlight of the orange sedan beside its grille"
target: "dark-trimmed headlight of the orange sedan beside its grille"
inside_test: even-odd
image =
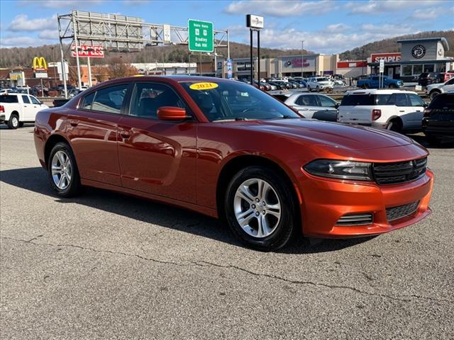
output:
[[[309,174],[331,179],[372,181],[372,163],[317,159],[304,166]]]

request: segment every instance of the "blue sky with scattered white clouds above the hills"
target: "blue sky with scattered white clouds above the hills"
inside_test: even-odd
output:
[[[189,18],[229,30],[249,43],[248,13],[264,16],[260,45],[338,53],[367,42],[426,30],[454,30],[454,0],[157,1],[0,0],[0,46],[58,42],[57,13],[71,9],[138,16],[145,23],[187,26]]]

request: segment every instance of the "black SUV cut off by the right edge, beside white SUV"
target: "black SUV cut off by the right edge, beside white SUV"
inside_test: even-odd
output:
[[[439,94],[424,110],[423,132],[429,143],[454,140],[454,92]]]

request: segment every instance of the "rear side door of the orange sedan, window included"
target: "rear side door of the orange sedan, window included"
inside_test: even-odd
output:
[[[67,117],[67,136],[82,179],[121,186],[117,131],[128,86],[117,84],[87,93]]]

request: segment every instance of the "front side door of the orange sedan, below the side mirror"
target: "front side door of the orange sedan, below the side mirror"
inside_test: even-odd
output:
[[[195,120],[163,121],[162,106],[186,108],[170,85],[136,83],[129,115],[118,125],[118,158],[125,188],[185,202],[196,202]]]

